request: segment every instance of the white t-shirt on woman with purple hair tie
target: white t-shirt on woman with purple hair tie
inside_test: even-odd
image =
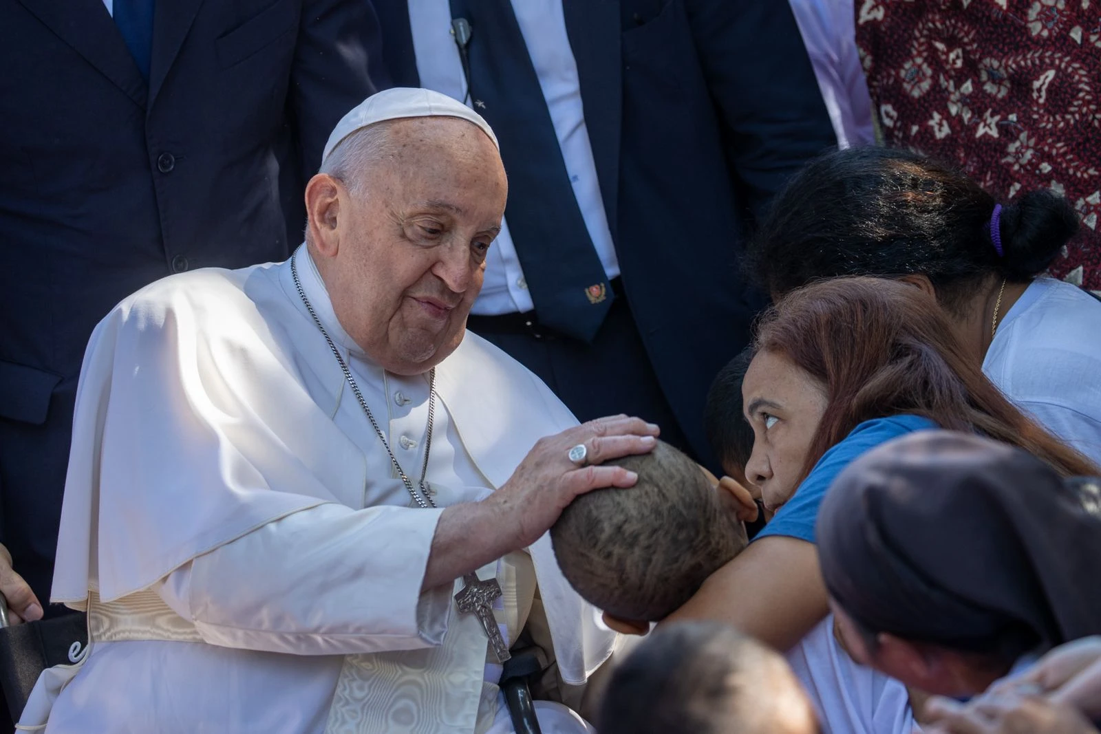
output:
[[[1101,463],[1101,303],[1038,277],[1006,311],[982,371],[1045,428]]]

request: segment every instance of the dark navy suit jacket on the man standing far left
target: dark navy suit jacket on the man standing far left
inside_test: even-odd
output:
[[[92,327],[284,259],[378,44],[369,0],[162,0],[146,84],[101,0],[0,0],[0,539],[43,602]]]

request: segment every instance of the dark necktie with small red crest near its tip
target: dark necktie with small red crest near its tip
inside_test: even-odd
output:
[[[470,22],[470,101],[509,175],[509,221],[539,322],[591,342],[614,294],[577,206],[550,112],[510,0],[450,0]]]

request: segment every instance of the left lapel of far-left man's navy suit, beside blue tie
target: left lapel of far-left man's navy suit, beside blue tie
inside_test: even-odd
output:
[[[19,2],[126,92],[134,105],[145,107],[145,80],[102,0]]]

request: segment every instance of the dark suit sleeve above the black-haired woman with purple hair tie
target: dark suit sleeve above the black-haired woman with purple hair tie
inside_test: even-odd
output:
[[[803,36],[787,2],[686,0],[685,8],[728,165],[760,217],[792,174],[837,144]]]

